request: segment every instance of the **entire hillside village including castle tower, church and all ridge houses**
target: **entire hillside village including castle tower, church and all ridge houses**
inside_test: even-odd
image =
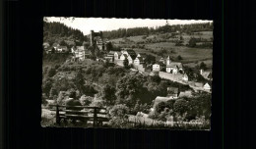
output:
[[[96,45],[100,51],[106,51],[105,44],[109,41],[103,42],[102,31],[94,32],[90,35],[90,45]],[[52,53],[52,49],[56,53],[70,53],[73,55],[70,61],[85,61],[90,59],[92,53],[85,46],[73,46],[71,50],[67,46],[60,46],[58,43],[54,43],[52,47],[49,47],[48,43],[43,44],[44,49],[47,54]],[[131,48],[122,48],[121,51],[109,51],[104,54],[103,58],[96,58],[96,61],[103,61],[108,63],[113,63],[118,66],[124,67],[124,61],[128,60],[128,65],[131,66],[131,71],[140,73],[142,75],[159,75],[161,78],[169,79],[172,81],[177,81],[179,83],[188,84],[195,91],[206,91],[211,93],[212,90],[212,70],[200,70],[200,75],[206,78],[207,82],[194,82],[189,81],[188,75],[183,69],[182,63],[174,62],[169,56],[165,58],[160,58],[160,60],[155,64],[145,64],[145,59],[147,58],[146,53],[136,53]]]

